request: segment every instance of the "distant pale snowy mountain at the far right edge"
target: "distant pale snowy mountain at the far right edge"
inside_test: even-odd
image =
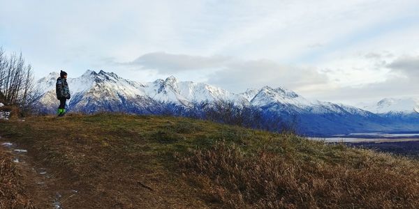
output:
[[[419,112],[419,98],[385,98],[362,108],[374,114],[412,114]]]

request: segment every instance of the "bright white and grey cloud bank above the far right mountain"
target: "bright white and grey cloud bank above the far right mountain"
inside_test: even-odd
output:
[[[308,98],[358,104],[383,98],[418,97],[419,57],[399,56],[392,52],[357,53],[325,63],[321,72],[332,84]]]

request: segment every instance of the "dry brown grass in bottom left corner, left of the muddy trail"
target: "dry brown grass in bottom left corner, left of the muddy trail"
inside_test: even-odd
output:
[[[0,148],[0,208],[35,208],[12,157]]]

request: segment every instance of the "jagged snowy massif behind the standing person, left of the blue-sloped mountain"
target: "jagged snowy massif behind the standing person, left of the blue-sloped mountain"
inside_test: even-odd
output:
[[[57,106],[55,83],[59,75],[50,73],[39,79],[38,89],[43,96],[40,103],[43,111],[53,111]],[[113,72],[87,70],[80,77],[68,78],[71,99],[68,108],[85,111],[152,111],[157,102],[190,107],[193,103],[234,100],[247,104],[239,94],[230,93],[215,86],[196,82],[179,82],[175,77],[157,79],[155,82],[139,83],[119,77]]]

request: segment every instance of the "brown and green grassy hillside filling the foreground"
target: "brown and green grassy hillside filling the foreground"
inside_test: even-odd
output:
[[[98,114],[1,121],[0,136],[53,173],[47,194],[77,189],[64,208],[419,208],[418,161],[293,134]]]

